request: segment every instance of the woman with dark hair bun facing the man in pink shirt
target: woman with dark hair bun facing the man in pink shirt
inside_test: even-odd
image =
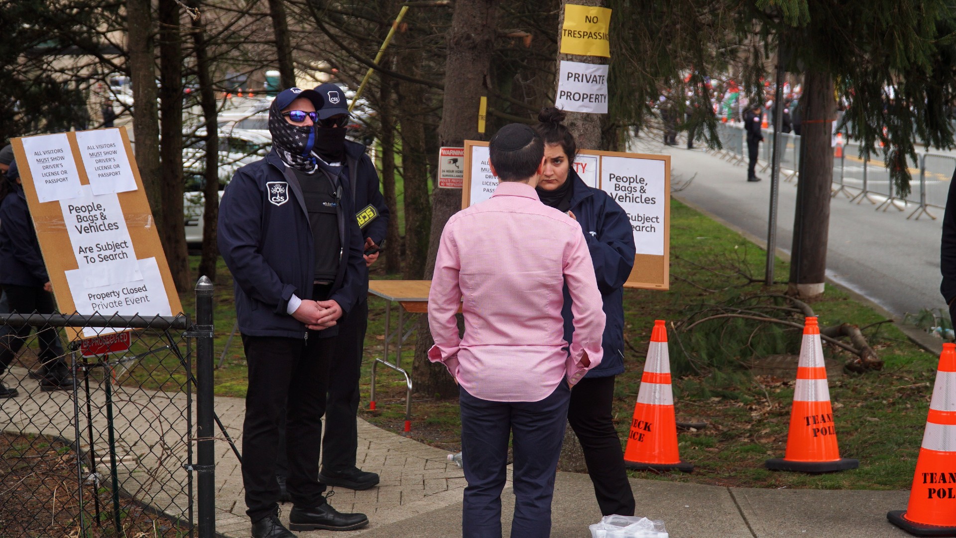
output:
[[[568,421],[584,449],[601,514],[633,516],[634,494],[624,470],[612,404],[615,376],[624,371],[623,285],[634,266],[634,233],[618,202],[588,187],[577,175],[575,137],[563,121],[564,112],[554,107],[538,114],[535,130],[544,140],[545,165],[536,189],[541,202],[568,213],[581,225],[607,317],[601,343],[604,359],[571,392]],[[574,326],[567,286],[561,315],[564,339],[570,344]]]

